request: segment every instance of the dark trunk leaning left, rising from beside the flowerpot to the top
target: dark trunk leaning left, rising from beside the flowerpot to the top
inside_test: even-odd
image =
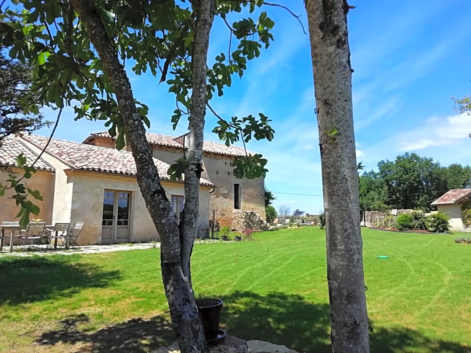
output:
[[[136,162],[137,182],[160,235],[162,277],[180,349],[182,353],[205,352],[207,342],[204,338],[203,327],[193,292],[181,267],[178,226],[165,190],[160,184],[152,152],[145,137],[145,128],[134,103],[129,78],[119,63],[116,48],[106,36],[99,10],[93,1],[71,0],[71,4],[84,24],[114,88]]]

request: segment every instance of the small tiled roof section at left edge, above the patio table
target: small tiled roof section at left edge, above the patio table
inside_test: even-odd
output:
[[[30,150],[21,140],[6,137],[2,140],[2,145],[0,146],[0,165],[16,167],[17,164],[15,160],[20,153],[23,153],[30,166],[38,158],[38,154]],[[48,164],[43,158],[40,158],[38,162],[36,162],[35,167],[36,169],[54,170],[54,167]]]

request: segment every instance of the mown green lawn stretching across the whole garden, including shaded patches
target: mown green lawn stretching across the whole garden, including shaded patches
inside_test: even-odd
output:
[[[363,230],[372,352],[471,351],[471,245],[454,237]],[[229,334],[330,352],[325,232],[256,239],[195,245],[196,294],[224,300]],[[0,351],[143,353],[169,343],[158,256],[0,257]]]

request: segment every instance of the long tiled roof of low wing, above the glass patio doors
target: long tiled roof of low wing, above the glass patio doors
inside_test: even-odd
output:
[[[39,148],[43,148],[48,141],[47,137],[37,135],[23,135],[23,138]],[[73,169],[136,175],[136,164],[131,152],[57,139],[51,140],[46,152]],[[170,180],[167,175],[169,165],[156,158],[154,163],[160,178]],[[200,179],[200,184],[214,185],[203,178]]]

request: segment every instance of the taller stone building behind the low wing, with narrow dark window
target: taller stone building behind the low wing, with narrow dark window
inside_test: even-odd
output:
[[[173,137],[147,133],[147,141],[152,147],[154,158],[167,164],[173,164],[180,158],[188,146],[187,134]],[[114,148],[114,139],[108,132],[97,132],[85,139],[84,144]],[[130,150],[126,146],[126,150]],[[232,161],[245,156],[241,147],[225,146],[211,141],[203,142],[202,177],[214,184],[210,193],[209,218],[214,211],[219,225],[234,224],[234,218],[240,218],[242,211],[252,211],[265,220],[265,184],[264,178],[238,179],[233,175]],[[165,173],[166,174],[166,173]],[[235,223],[238,223],[237,220]]]

